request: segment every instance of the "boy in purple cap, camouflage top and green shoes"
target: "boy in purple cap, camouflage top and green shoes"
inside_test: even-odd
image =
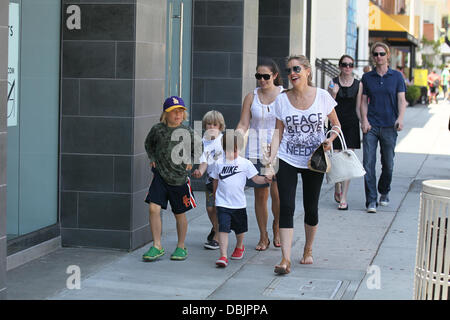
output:
[[[170,202],[175,215],[178,233],[177,248],[170,259],[187,258],[184,241],[188,223],[185,212],[196,207],[188,171],[192,169],[198,152],[194,148],[193,130],[183,124],[186,119],[183,99],[169,97],[164,102],[160,122],[151,128],[145,139],[145,150],[153,172],[153,180],[145,199],[150,206],[153,246],[143,255],[144,261],[154,261],[165,254],[161,246],[160,211],[161,208],[167,209],[167,202]]]

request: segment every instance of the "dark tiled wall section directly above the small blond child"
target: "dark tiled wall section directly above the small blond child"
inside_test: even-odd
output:
[[[247,12],[244,18],[245,12],[244,0],[194,0],[192,121],[201,120],[206,112],[215,109],[224,115],[227,128],[235,128],[239,122],[243,53],[244,47],[251,48],[248,42],[252,41],[245,35],[254,33],[253,28],[244,28],[252,14]],[[247,57],[245,67],[249,65]]]

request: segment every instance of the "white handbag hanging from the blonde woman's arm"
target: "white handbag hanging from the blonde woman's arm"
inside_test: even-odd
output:
[[[336,126],[336,128],[339,127]],[[364,170],[356,154],[352,150],[347,149],[347,144],[345,143],[344,134],[342,133],[341,128],[339,128],[339,132],[331,128],[331,130],[327,132],[327,138],[331,132],[336,133],[341,140],[342,151],[334,152],[333,144],[331,144],[331,169],[327,172],[327,183],[334,184],[364,176],[366,171]]]

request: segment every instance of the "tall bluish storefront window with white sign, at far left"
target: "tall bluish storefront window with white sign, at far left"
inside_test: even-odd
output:
[[[59,0],[10,0],[8,240],[57,222]]]

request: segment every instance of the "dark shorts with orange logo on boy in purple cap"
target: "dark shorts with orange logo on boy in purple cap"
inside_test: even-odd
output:
[[[167,209],[167,202],[170,202],[174,214],[181,214],[197,207],[190,180],[181,186],[171,186],[157,170],[153,170],[153,173],[145,202],[160,205],[163,209]]]

